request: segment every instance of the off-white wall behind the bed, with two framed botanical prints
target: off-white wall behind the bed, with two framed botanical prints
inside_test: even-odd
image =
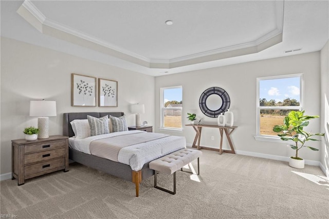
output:
[[[71,73],[118,81],[118,107],[71,106]],[[151,76],[1,38],[1,174],[11,172],[11,140],[24,138],[24,127],[37,125],[37,118],[29,117],[30,100],[57,101],[50,135],[62,134],[67,112],[124,112],[128,125],[134,125],[131,103],[144,103],[142,121],[153,125],[154,83]]]

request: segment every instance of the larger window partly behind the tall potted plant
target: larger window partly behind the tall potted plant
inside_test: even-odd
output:
[[[273,126],[303,108],[303,74],[257,79],[257,136],[277,137]]]

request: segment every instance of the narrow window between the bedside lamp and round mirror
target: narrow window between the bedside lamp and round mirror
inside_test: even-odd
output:
[[[161,88],[161,128],[181,130],[182,87]]]

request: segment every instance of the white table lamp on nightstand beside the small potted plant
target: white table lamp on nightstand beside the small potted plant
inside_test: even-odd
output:
[[[38,116],[39,139],[49,138],[49,118],[56,116],[56,101],[31,100],[30,116]]]

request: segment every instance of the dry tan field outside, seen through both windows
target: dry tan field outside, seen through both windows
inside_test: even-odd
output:
[[[262,135],[277,135],[273,132],[273,126],[283,124],[285,116],[263,114],[261,116],[261,130]],[[165,116],[165,127],[181,128],[181,116]]]

